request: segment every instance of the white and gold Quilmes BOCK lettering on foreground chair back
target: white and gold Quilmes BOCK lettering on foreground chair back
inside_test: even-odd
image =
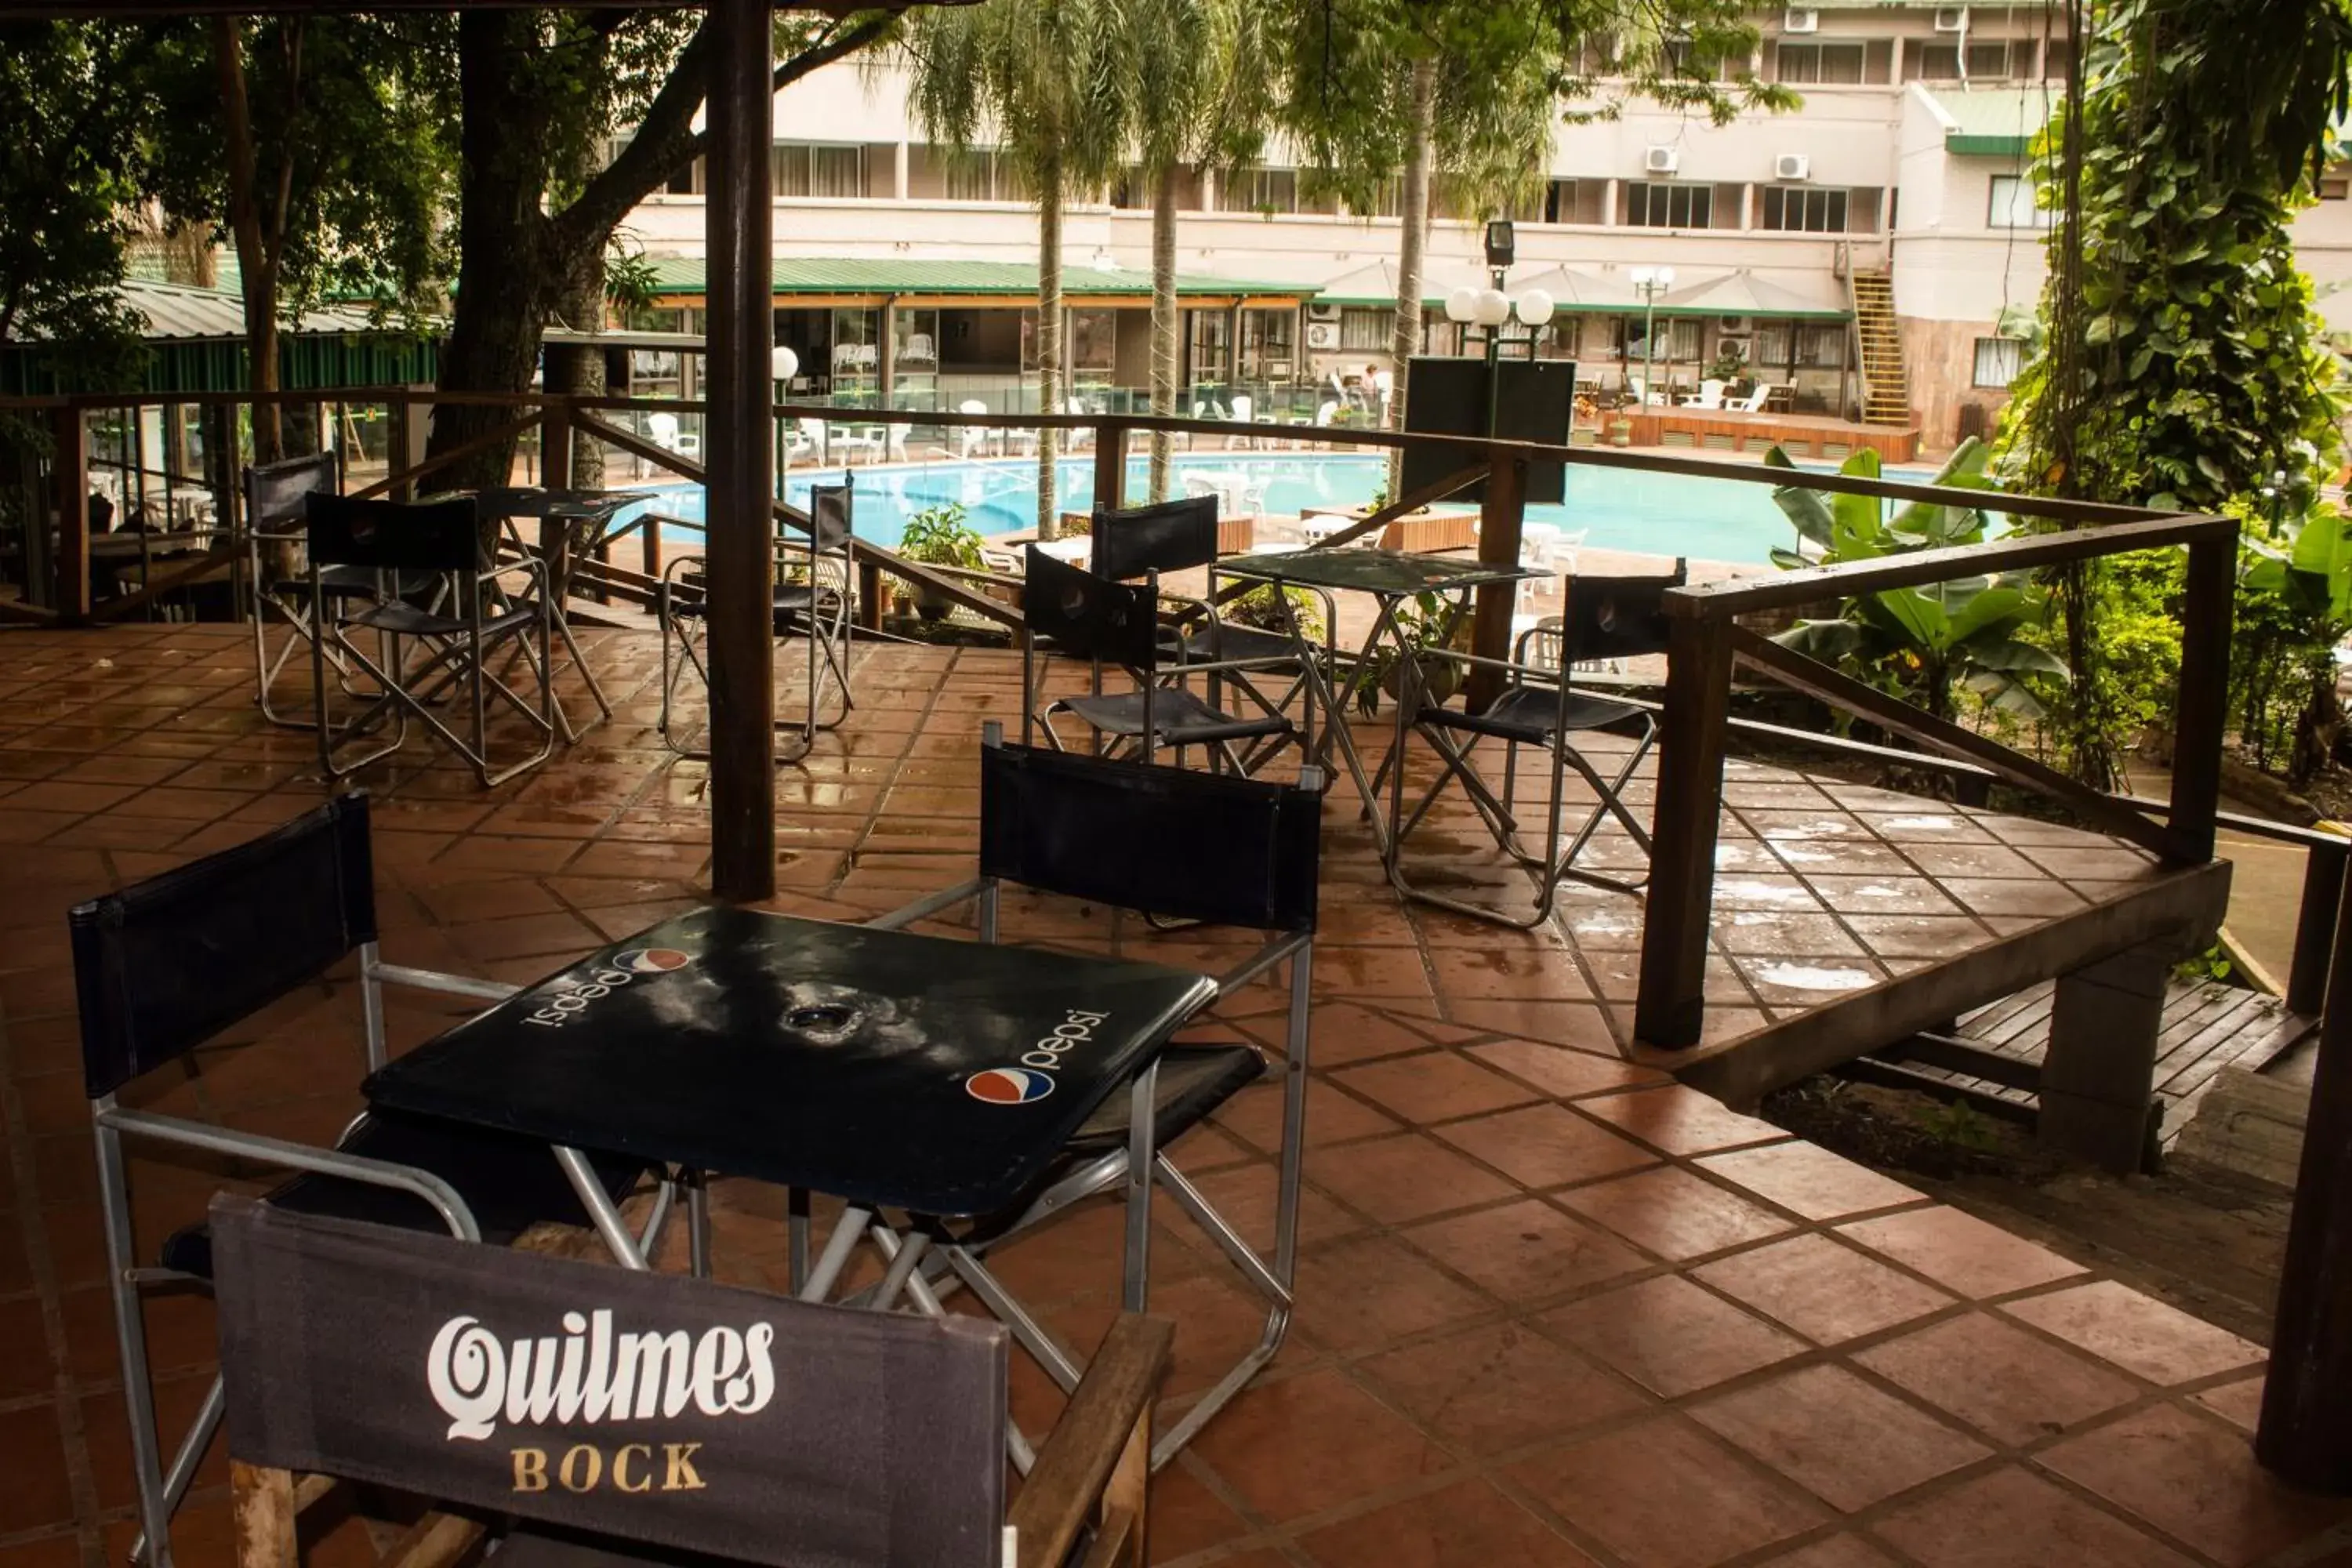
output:
[[[480,1319],[454,1316],[426,1352],[426,1389],[449,1418],[449,1441],[487,1441],[513,1427],[593,1427],[626,1420],[757,1415],[776,1396],[774,1324],[614,1333],[612,1312],[567,1312],[560,1335],[501,1340]],[[656,1448],[661,1448],[656,1462]],[[701,1443],[621,1443],[607,1462],[595,1443],[569,1443],[553,1481],[572,1493],[607,1483],[623,1493],[703,1490]],[[548,1448],[517,1446],[513,1490],[550,1486]]]

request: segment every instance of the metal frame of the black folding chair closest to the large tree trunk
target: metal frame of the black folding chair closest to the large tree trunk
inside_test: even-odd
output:
[[[355,508],[369,510],[360,512]],[[470,552],[470,559],[461,559],[454,545],[449,550],[440,548],[442,543],[456,538],[459,510],[463,510],[466,517],[466,552]],[[402,529],[402,524],[409,524],[421,534],[435,534],[435,538],[400,541],[388,534],[376,534],[374,543],[360,541],[355,548],[350,538],[334,536],[339,527],[343,527],[336,522],[339,512],[350,520],[350,527],[355,529],[381,529],[383,524]],[[397,752],[407,743],[407,726],[412,717],[433,731],[433,736],[437,736],[449,750],[463,757],[485,790],[539,766],[555,752],[555,618],[548,607],[546,562],[522,559],[506,567],[494,562],[485,564],[480,555],[480,538],[473,531],[475,512],[477,508],[470,498],[423,503],[416,508],[393,501],[343,501],[341,496],[332,498],[329,505],[320,505],[318,496],[308,498],[313,597],[322,592],[322,571],[327,567],[358,564],[395,576],[400,571],[433,571],[447,581],[445,592],[454,595],[459,609],[456,616],[437,616],[433,611],[402,614],[407,607],[400,599],[381,599],[358,614],[336,614],[322,621],[320,630],[325,635],[310,642],[310,701],[318,715],[315,729],[320,769],[325,769],[329,778],[348,778],[367,764]],[[529,578],[534,592],[524,595],[517,609],[501,611],[496,618],[485,618],[485,597],[503,599],[503,578],[508,574],[522,574]],[[529,639],[532,628],[539,630],[536,649],[532,649]],[[376,656],[369,656],[358,642],[353,642],[353,630],[374,630],[379,635]],[[402,649],[405,642],[419,644],[421,651],[409,654]],[[508,644],[513,644],[513,649],[539,677],[536,710],[522,698],[522,693],[489,672],[492,654]],[[367,672],[381,686],[381,696],[376,696],[360,712],[346,717],[341,724],[329,724],[327,719],[329,651]],[[470,741],[433,712],[442,696],[454,689],[461,691],[466,710],[473,715]],[[499,769],[489,762],[492,696],[496,696],[503,708],[522,715],[541,736],[539,750]],[[393,722],[388,741],[365,748],[358,755],[336,755],[341,743],[365,736],[386,719]]]

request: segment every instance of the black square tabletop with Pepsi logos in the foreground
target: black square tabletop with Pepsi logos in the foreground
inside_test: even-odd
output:
[[[1016,1201],[1214,994],[1157,964],[710,907],[419,1046],[367,1098],[976,1215]]]

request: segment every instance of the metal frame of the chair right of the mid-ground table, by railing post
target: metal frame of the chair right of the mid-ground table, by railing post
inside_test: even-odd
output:
[[[1616,693],[1597,698],[1590,691],[1576,689],[1578,665],[1595,663],[1597,658],[1611,658],[1621,654],[1663,651],[1663,630],[1646,635],[1649,628],[1639,625],[1616,625],[1613,602],[1602,609],[1592,625],[1583,625],[1578,609],[1592,602],[1595,588],[1606,590],[1611,585],[1630,588],[1632,592],[1663,592],[1670,585],[1684,581],[1682,562],[1675,564],[1675,574],[1668,578],[1583,578],[1588,585],[1583,604],[1578,602],[1578,578],[1569,576],[1564,581],[1564,607],[1566,616],[1562,625],[1531,628],[1519,635],[1512,646],[1512,658],[1479,658],[1475,654],[1463,654],[1454,649],[1430,649],[1428,656],[1446,658],[1465,670],[1498,670],[1505,675],[1505,696],[1519,691],[1543,691],[1550,689],[1557,698],[1552,710],[1552,722],[1543,726],[1541,736],[1529,733],[1494,733],[1494,729],[1482,729],[1470,715],[1454,712],[1425,701],[1421,682],[1409,682],[1411,689],[1411,729],[1428,741],[1430,750],[1437,752],[1439,771],[1430,780],[1430,788],[1421,795],[1421,802],[1404,811],[1404,766],[1390,776],[1390,816],[1397,823],[1397,832],[1390,846],[1388,877],[1399,893],[1418,903],[1428,903],[1442,910],[1454,910],[1456,914],[1470,914],[1475,919],[1517,926],[1522,931],[1541,926],[1552,914],[1552,903],[1559,893],[1559,884],[1566,879],[1583,882],[1590,886],[1639,893],[1649,884],[1649,875],[1642,877],[1611,877],[1606,872],[1590,872],[1576,865],[1576,858],[1599,832],[1602,823],[1616,818],[1625,827],[1625,835],[1642,849],[1644,856],[1651,853],[1649,825],[1635,818],[1625,806],[1623,792],[1632,783],[1642,762],[1649,757],[1651,748],[1658,743],[1658,717],[1646,703],[1628,703]],[[1536,639],[1557,639],[1559,656],[1543,663],[1529,661],[1529,644]],[[1653,644],[1653,646],[1651,646]],[[1616,769],[1613,776],[1604,776],[1590,757],[1576,745],[1581,731],[1630,731],[1635,738],[1632,752],[1625,764]],[[1456,741],[1456,731],[1465,733],[1465,741]],[[1479,741],[1503,743],[1503,790],[1496,792],[1486,778],[1477,771],[1472,752]],[[1519,773],[1519,748],[1538,745],[1550,757],[1550,799],[1545,802],[1545,825],[1543,825],[1543,849],[1534,851],[1524,844],[1519,832],[1517,813],[1517,773]],[[1576,773],[1592,788],[1597,802],[1592,811],[1585,813],[1573,835],[1564,832],[1566,802],[1562,799],[1562,788],[1569,773]],[[1496,846],[1503,849],[1512,860],[1526,867],[1536,877],[1536,907],[1526,917],[1508,914],[1494,905],[1472,903],[1465,898],[1454,898],[1449,893],[1432,891],[1428,886],[1414,886],[1404,870],[1404,839],[1416,825],[1428,816],[1430,806],[1444,792],[1446,783],[1458,778],[1463,792],[1470,797],[1472,809],[1484,823],[1486,832],[1494,837]]]

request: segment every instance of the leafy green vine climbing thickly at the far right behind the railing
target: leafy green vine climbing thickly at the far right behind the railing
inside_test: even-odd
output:
[[[2340,461],[2345,404],[2288,221],[2347,108],[2352,0],[2072,0],[2070,21],[2072,80],[2037,143],[2056,209],[2046,331],[2004,418],[2002,473],[2199,512],[2284,473],[2300,510]],[[2173,576],[2053,574],[2053,635],[2077,672],[2056,752],[2098,788],[2150,703],[2103,668],[2093,628],[2161,618]],[[2176,665],[2178,644],[2152,668]]]

